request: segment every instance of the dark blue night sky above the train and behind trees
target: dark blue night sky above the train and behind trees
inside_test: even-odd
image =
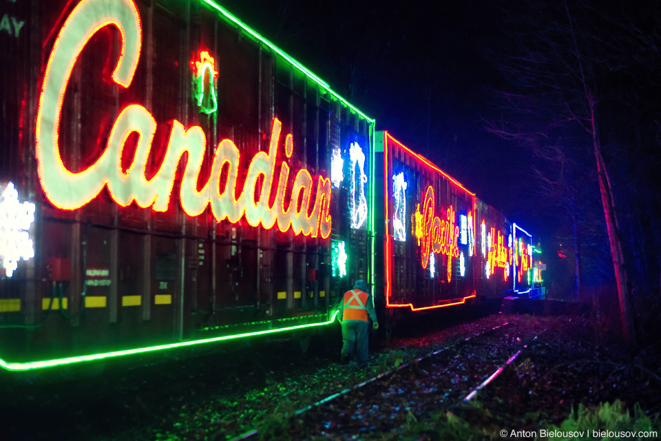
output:
[[[583,247],[581,265],[589,277],[596,284],[609,283],[613,266],[591,134],[571,116],[563,121],[567,115],[557,102],[544,101],[556,87],[575,109],[585,110],[580,87],[572,79],[576,70],[571,69],[580,57],[567,37],[566,5],[576,25],[579,53],[595,81],[591,87],[601,92],[598,132],[619,201],[617,215],[626,223],[622,225],[625,252],[631,265],[636,264],[639,283],[658,285],[658,256],[653,250],[661,247],[656,233],[661,228],[661,188],[652,183],[661,172],[661,101],[653,99],[661,96],[658,2],[633,6],[591,0],[221,3],[375,118],[377,130],[388,130],[532,232],[535,243],[541,240],[546,250],[545,259],[567,255],[567,247]],[[543,30],[537,32],[538,28]],[[552,36],[550,45],[545,35]],[[552,72],[550,81],[557,81],[559,87],[540,85],[537,79],[529,85],[527,79],[512,79],[505,67],[507,57],[516,59],[517,51],[527,50],[534,57],[552,59],[530,67],[538,76]],[[553,156],[559,146],[557,157],[541,158],[531,143],[485,130],[485,121],[501,115],[502,102],[496,101],[494,91],[508,89],[531,98],[521,121],[534,127],[531,133],[536,125],[541,127],[537,147],[547,152],[550,147]],[[557,93],[553,99],[558,99]],[[520,122],[517,112],[506,118],[515,125]],[[581,118],[585,124],[585,112]],[[558,121],[558,130],[548,130]],[[547,194],[544,178],[534,178],[534,167],[554,181],[553,194]],[[638,249],[645,250],[644,258]],[[566,273],[567,286],[575,274],[571,260],[569,256],[557,266]]]

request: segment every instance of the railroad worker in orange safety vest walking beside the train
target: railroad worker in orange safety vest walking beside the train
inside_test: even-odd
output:
[[[342,323],[342,362],[353,358],[355,346],[358,346],[358,364],[367,365],[369,360],[369,318],[373,329],[379,329],[377,314],[372,305],[372,296],[368,293],[365,280],[356,280],[353,289],[346,291],[339,302],[339,321]]]

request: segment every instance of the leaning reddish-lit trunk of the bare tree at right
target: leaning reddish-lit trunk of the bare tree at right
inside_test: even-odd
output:
[[[591,106],[592,123],[592,141],[594,146],[594,156],[597,163],[597,176],[599,179],[599,189],[601,191],[601,202],[604,206],[604,216],[606,217],[606,228],[608,230],[609,245],[611,247],[611,256],[613,258],[613,269],[615,270],[615,280],[618,286],[618,298],[620,300],[620,319],[622,321],[622,332],[628,347],[636,345],[636,327],[633,325],[633,311],[631,310],[631,300],[629,298],[629,288],[627,287],[627,269],[625,267],[625,256],[622,253],[622,243],[618,232],[618,225],[613,210],[613,194],[608,182],[604,158],[601,154],[601,145],[598,132],[596,130],[596,121],[594,114],[594,104]]]

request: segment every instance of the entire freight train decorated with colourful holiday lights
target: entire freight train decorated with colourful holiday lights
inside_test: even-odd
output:
[[[390,325],[538,286],[532,236],[215,1],[3,7],[3,368],[306,336],[357,279]]]

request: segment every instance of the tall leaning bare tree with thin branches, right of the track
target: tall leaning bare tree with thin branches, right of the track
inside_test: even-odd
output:
[[[622,106],[630,79],[641,60],[636,49],[650,45],[653,36],[617,10],[600,10],[589,2],[534,1],[508,3],[501,10],[506,35],[487,57],[501,73],[502,84],[492,90],[496,116],[485,118],[487,131],[516,139],[532,147],[538,157],[562,161],[576,158],[589,148],[599,184],[612,265],[618,290],[625,340],[636,342],[622,231],[618,223],[615,192],[604,157],[600,123]],[[658,41],[656,41],[658,43]],[[658,50],[658,49],[657,49]],[[648,61],[649,62],[649,61]],[[585,134],[585,142],[567,139],[567,131]],[[571,191],[540,173],[554,191]],[[568,199],[571,201],[571,198]],[[567,207],[570,211],[573,209]],[[579,256],[580,256],[580,250]],[[577,261],[580,280],[580,262]],[[580,283],[580,282],[579,282]]]

